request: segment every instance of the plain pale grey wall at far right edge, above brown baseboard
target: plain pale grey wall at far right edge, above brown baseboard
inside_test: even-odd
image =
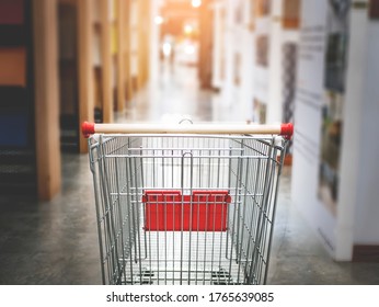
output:
[[[379,36],[378,21],[367,23],[366,37]],[[363,104],[363,126],[359,138],[360,159],[358,177],[358,202],[356,206],[358,229],[355,232],[354,240],[358,243],[370,245],[379,241],[379,206],[377,205],[379,192],[377,183],[379,182],[379,164],[377,162],[378,144],[375,141],[375,126],[379,114],[379,89],[376,80],[379,78],[379,53],[378,39],[367,41],[366,71],[363,75],[364,92],[361,96]]]

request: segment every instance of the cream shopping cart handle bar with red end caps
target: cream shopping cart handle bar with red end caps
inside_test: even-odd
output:
[[[273,134],[290,139],[294,134],[291,123],[277,125],[233,125],[233,124],[94,124],[84,122],[82,134],[90,137],[95,133],[104,134]]]

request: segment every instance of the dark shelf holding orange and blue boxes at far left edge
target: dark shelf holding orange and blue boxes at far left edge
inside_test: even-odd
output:
[[[32,10],[0,1],[0,194],[35,196]]]

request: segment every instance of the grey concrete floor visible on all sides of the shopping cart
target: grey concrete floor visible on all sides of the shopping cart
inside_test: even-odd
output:
[[[198,90],[196,69],[166,69],[124,121],[221,121],[219,98]],[[379,284],[379,263],[337,263],[290,201],[290,168],[280,182],[268,284]],[[51,202],[0,196],[0,284],[100,284],[92,174],[87,155],[62,155],[62,190]]]

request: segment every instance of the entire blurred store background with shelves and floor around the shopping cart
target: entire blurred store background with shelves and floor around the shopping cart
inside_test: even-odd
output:
[[[379,283],[378,55],[377,0],[0,0],[0,283],[100,282],[81,123],[183,117],[295,124],[272,283]]]

